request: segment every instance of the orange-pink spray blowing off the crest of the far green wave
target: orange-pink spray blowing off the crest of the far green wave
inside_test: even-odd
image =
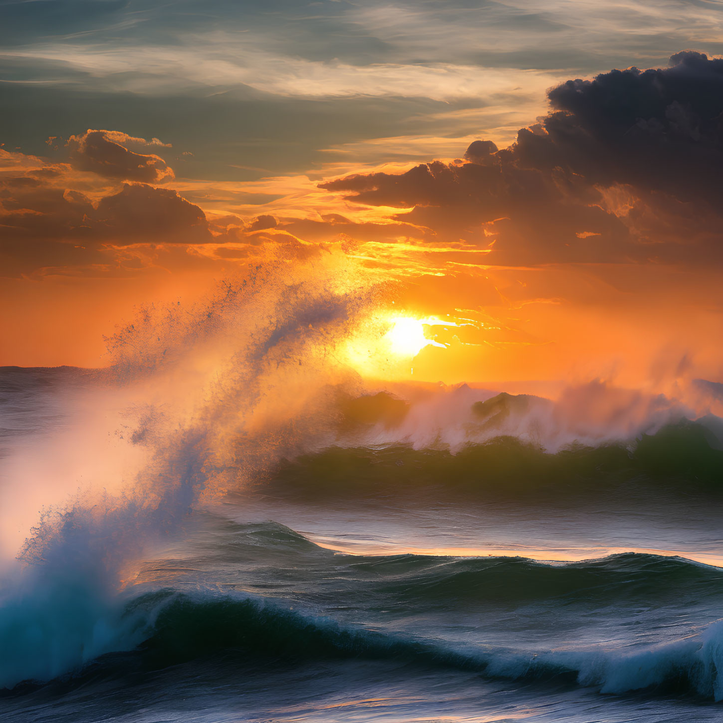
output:
[[[708,445],[723,449],[718,402],[695,386],[678,398],[617,388],[600,380],[565,385],[556,398],[471,388],[466,384],[382,390],[345,397],[339,390],[341,446],[406,444],[457,452],[498,437],[514,437],[548,453],[573,446],[634,445],[666,427],[697,421]]]

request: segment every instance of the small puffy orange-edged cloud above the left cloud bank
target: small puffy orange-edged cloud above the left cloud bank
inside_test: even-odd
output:
[[[125,133],[88,129],[68,139],[70,163],[79,171],[93,171],[100,176],[125,181],[159,183],[174,178],[166,161],[155,154],[134,153],[126,147],[130,142],[147,145],[145,139]],[[123,145],[126,144],[126,145]]]

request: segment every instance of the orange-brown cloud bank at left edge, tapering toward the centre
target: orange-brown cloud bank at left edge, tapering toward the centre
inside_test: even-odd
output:
[[[100,133],[89,132],[82,138],[97,140]],[[96,168],[95,161],[87,168],[85,161],[98,147],[107,150],[115,140],[145,142],[117,131],[102,133],[107,138],[93,151],[72,137],[67,163],[0,149],[0,276],[140,273],[161,257],[174,268],[184,266],[186,257],[161,253],[169,245],[234,244],[233,254],[221,253],[218,258],[241,259],[247,254],[239,253],[239,244],[258,247],[262,239],[257,232],[277,225],[270,215],[260,215],[249,225],[235,214],[207,217],[174,189],[125,180],[129,169],[140,168],[141,175],[158,175],[163,169],[154,156],[120,146],[120,155],[114,156],[116,151],[108,155],[117,161],[112,172],[106,173],[110,161],[103,165],[105,175],[87,170]],[[79,148],[85,153],[82,163]],[[290,238],[281,234],[273,241],[283,244]],[[200,266],[212,261],[212,253],[197,256]]]

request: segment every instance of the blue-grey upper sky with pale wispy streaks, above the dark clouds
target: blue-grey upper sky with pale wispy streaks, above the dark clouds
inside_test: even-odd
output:
[[[719,0],[0,0],[0,142],[119,129],[227,181],[453,157],[568,77],[718,54],[722,25]]]

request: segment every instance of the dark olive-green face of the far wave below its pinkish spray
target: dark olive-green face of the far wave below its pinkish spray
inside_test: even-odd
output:
[[[291,495],[332,497],[379,492],[514,493],[636,484],[723,491],[723,450],[696,422],[669,424],[630,444],[572,445],[548,453],[518,437],[495,437],[451,453],[411,445],[336,446],[281,463],[263,484]]]

